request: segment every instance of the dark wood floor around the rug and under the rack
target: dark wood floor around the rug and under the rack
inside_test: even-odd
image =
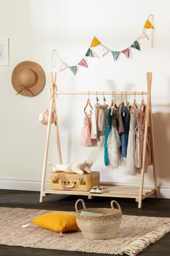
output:
[[[39,192],[28,192],[19,190],[4,190],[0,189],[0,206],[10,208],[35,208],[47,210],[74,210],[74,204],[79,196],[62,196],[49,195],[45,197],[44,202],[39,202]],[[86,197],[81,197],[86,202],[86,207],[109,207],[110,198],[94,197],[88,200]],[[138,209],[137,203],[133,199],[115,198],[120,203],[123,214],[136,216],[160,216],[170,218],[170,200],[147,198],[143,201],[143,208]],[[1,227],[0,227],[1,230]],[[0,233],[1,235],[1,233]],[[1,256],[96,256],[97,254],[86,252],[68,252],[48,249],[32,249],[24,247],[9,247],[0,245]],[[155,244],[140,252],[141,256],[169,256],[170,255],[170,233],[166,234]],[[99,255],[98,256],[102,256]]]

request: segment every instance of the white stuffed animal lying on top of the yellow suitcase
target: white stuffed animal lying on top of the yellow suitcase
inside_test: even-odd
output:
[[[92,161],[82,161],[68,164],[56,164],[55,166],[53,166],[53,172],[66,171],[73,172],[76,174],[91,174],[90,167],[92,163]]]

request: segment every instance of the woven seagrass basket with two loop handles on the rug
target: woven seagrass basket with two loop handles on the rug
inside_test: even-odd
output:
[[[92,213],[100,213],[100,215],[85,216],[81,213],[81,210],[77,209],[79,202],[82,203],[84,210],[88,210]],[[115,209],[113,204],[116,204],[118,209]],[[115,200],[112,200],[110,205],[111,208],[86,208],[84,200],[79,199],[76,201],[76,221],[84,238],[112,239],[116,237],[122,222],[122,210]]]

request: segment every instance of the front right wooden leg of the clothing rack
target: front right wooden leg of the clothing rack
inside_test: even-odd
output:
[[[150,116],[149,111],[151,106],[151,82],[152,82],[152,73],[147,72],[148,96],[147,96],[147,103],[146,103],[146,122],[145,122],[145,132],[144,132],[144,140],[143,140],[143,164],[141,169],[138,208],[142,207],[144,173],[146,171],[146,168],[148,167],[146,166],[146,147],[147,147],[147,137],[148,137],[149,116]]]

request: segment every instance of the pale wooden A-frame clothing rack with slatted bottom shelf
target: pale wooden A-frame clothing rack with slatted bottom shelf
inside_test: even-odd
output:
[[[73,91],[58,91],[56,85],[56,73],[51,73],[51,87],[50,87],[50,107],[49,107],[49,118],[48,118],[48,129],[46,135],[46,145],[45,145],[45,155],[42,169],[42,182],[41,182],[41,191],[40,191],[40,202],[42,202],[42,197],[48,194],[62,194],[62,195],[86,195],[89,199],[91,197],[130,197],[135,198],[138,202],[138,208],[142,207],[142,200],[151,195],[157,196],[157,180],[156,180],[156,165],[155,165],[155,150],[154,150],[154,140],[153,140],[153,118],[152,118],[152,108],[151,108],[151,82],[152,82],[152,73],[147,72],[147,92],[114,92],[114,95],[147,95],[146,103],[146,121],[145,121],[145,132],[143,140],[143,166],[141,168],[140,176],[140,185],[139,187],[130,187],[130,186],[115,186],[104,185],[104,192],[102,194],[91,194],[90,192],[82,191],[71,191],[71,190],[55,190],[55,189],[45,189],[45,176],[46,168],[48,162],[48,148],[50,141],[50,120],[52,116],[53,109],[55,110],[57,116],[57,109],[55,105],[56,95],[113,95],[113,92],[73,92]],[[151,132],[151,153],[153,161],[153,182],[154,187],[151,189],[146,189],[143,187],[144,183],[144,174],[146,172],[146,146],[147,146],[147,136],[148,136],[148,126],[150,126]],[[58,129],[58,116],[55,121],[55,134],[56,134],[56,144],[58,148],[58,163],[62,163],[61,156],[61,142]]]

